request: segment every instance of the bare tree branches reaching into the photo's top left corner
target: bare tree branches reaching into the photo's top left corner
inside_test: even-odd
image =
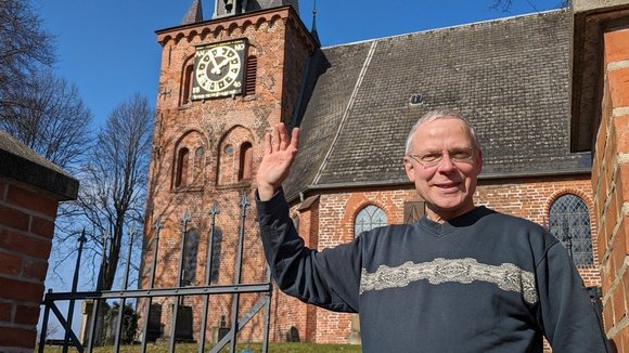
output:
[[[40,66],[55,61],[52,36],[41,28],[29,0],[0,0],[0,110],[21,105],[12,92],[22,91]]]

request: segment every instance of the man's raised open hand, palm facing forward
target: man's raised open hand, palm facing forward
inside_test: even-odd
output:
[[[294,128],[291,139],[284,123],[273,127],[265,135],[265,155],[258,167],[257,183],[260,200],[269,200],[288,176],[299,146],[299,128]]]

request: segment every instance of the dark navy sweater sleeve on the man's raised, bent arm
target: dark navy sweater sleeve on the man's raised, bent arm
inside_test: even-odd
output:
[[[260,236],[271,275],[285,293],[337,312],[358,312],[360,240],[316,251],[304,246],[280,189],[256,197]]]

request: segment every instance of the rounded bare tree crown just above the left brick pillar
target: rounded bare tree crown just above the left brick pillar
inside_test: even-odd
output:
[[[91,112],[76,86],[50,69],[28,73],[21,90],[5,92],[17,104],[0,109],[0,129],[62,168],[72,168],[91,140]]]

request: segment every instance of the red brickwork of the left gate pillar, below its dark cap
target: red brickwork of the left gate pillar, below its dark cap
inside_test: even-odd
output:
[[[57,200],[0,179],[0,351],[33,352]]]

